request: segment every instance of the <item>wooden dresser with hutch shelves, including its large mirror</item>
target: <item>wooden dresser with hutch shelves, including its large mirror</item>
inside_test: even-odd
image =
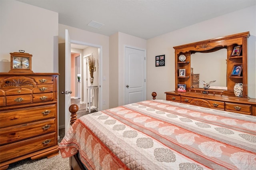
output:
[[[175,46],[175,90],[165,92],[166,100],[256,116],[256,99],[248,97],[249,36],[243,32]],[[181,70],[185,75],[180,76]],[[195,73],[201,81],[212,81],[210,87],[195,86]],[[180,85],[186,91],[179,91]],[[234,94],[235,85],[242,86],[240,97]]]

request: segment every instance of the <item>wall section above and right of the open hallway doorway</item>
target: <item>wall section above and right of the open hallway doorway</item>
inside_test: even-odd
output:
[[[65,42],[65,29],[68,29],[70,40],[88,43],[91,45],[102,46],[102,73],[106,77],[106,81],[102,81],[102,99],[106,101],[106,105],[102,109],[109,108],[109,37],[100,34],[88,32],[78,28],[59,24],[59,43]],[[81,63],[81,69],[83,65]]]

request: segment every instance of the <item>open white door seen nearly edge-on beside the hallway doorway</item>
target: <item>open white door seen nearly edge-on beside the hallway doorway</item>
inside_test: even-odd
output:
[[[65,133],[70,128],[69,107],[71,105],[71,44],[68,30],[65,30]]]

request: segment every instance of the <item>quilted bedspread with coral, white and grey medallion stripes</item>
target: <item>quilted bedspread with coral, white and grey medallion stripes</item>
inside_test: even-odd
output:
[[[59,145],[96,170],[256,170],[256,117],[149,100],[80,117]]]

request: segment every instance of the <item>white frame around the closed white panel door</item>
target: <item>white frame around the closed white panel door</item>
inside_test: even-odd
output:
[[[138,48],[138,47],[134,47],[134,46],[131,46],[131,45],[124,45],[124,51],[123,51],[123,53],[124,53],[124,57],[123,57],[123,65],[124,65],[124,67],[123,67],[123,75],[124,75],[124,79],[123,79],[123,95],[124,95],[123,104],[125,104],[125,101],[126,101],[126,75],[125,75],[125,73],[126,73],[126,71],[125,71],[125,69],[126,69],[126,64],[125,64],[125,61],[126,61],[125,49],[126,49],[126,47],[142,50],[145,53],[145,60],[144,60],[144,62],[145,62],[145,69],[144,69],[144,71],[145,71],[145,87],[144,87],[145,94],[144,94],[144,98],[145,99],[147,98],[147,51],[146,51],[146,49],[143,49],[143,48]]]

